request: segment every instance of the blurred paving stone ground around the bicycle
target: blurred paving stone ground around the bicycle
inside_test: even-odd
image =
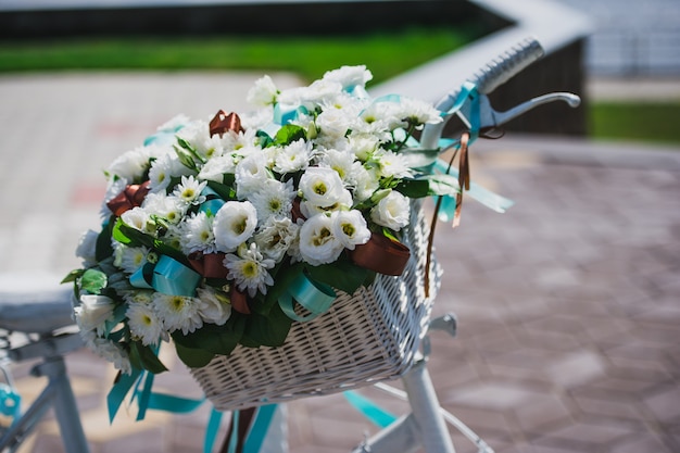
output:
[[[98,225],[101,168],[175,113],[242,109],[257,76],[0,77],[0,272],[76,267],[80,232]],[[466,200],[461,227],[437,227],[435,311],[459,322],[457,338],[432,338],[442,405],[499,453],[680,451],[680,150],[511,134],[471,151],[473,178],[516,205],[496,214]],[[28,368],[15,368],[26,401]],[[86,351],[68,368],[92,453],[202,451],[207,405],[141,423],[123,411],[110,426],[113,370]],[[176,368],[159,390],[200,395]],[[375,431],[341,395],[288,411],[294,453],[347,452]],[[23,451],[63,451],[53,419]]]

